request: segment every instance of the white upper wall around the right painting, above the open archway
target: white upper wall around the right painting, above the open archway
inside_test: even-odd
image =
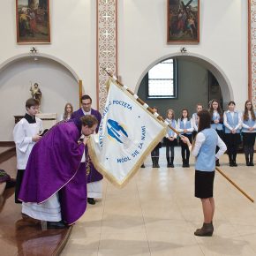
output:
[[[180,45],[166,44],[166,9],[167,0],[120,1],[119,75],[135,91],[150,64],[179,52]],[[248,95],[247,1],[201,0],[200,44],[186,48],[222,69],[230,80],[237,108],[243,109]]]

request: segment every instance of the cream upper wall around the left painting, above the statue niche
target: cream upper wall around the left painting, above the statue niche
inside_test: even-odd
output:
[[[95,103],[96,1],[52,0],[50,5],[51,44],[36,45],[36,48],[39,53],[69,64]],[[1,1],[1,9],[4,11],[0,17],[0,65],[12,56],[29,53],[31,47],[16,43],[15,0]]]

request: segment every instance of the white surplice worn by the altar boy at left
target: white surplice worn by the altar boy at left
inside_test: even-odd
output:
[[[35,117],[34,124],[29,124],[22,118],[13,129],[13,139],[16,144],[17,169],[26,169],[26,162],[35,142],[32,137],[43,130],[40,118]]]

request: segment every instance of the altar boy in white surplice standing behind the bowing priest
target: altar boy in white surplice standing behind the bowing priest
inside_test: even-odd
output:
[[[16,144],[17,153],[17,177],[15,188],[15,202],[21,203],[18,200],[19,189],[22,183],[26,162],[29,154],[34,147],[34,144],[41,139],[39,135],[42,132],[42,122],[40,118],[35,117],[38,113],[39,102],[33,98],[26,101],[26,115],[13,130],[13,139]]]

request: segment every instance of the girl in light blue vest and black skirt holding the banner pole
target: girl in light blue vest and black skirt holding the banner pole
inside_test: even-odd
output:
[[[215,160],[224,154],[227,147],[211,128],[211,115],[207,110],[201,110],[199,117],[199,133],[192,146],[187,137],[182,140],[196,157],[195,163],[195,197],[202,202],[204,223],[203,226],[194,232],[195,236],[211,237],[214,232],[213,217],[215,214],[215,200],[213,197],[215,179]],[[216,146],[219,151],[215,154]]]

